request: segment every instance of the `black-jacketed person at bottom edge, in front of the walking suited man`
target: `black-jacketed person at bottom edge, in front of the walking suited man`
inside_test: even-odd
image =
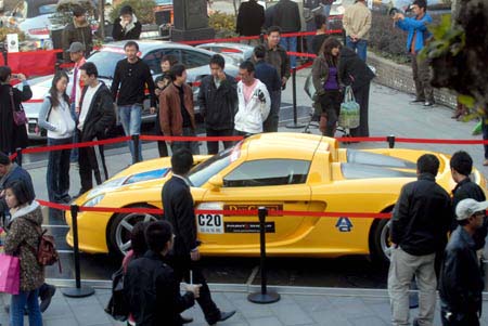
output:
[[[180,282],[165,263],[175,236],[166,221],[150,223],[145,231],[149,250],[133,259],[124,277],[124,292],[138,326],[180,326],[180,313],[198,298],[201,285],[187,284],[181,296]]]

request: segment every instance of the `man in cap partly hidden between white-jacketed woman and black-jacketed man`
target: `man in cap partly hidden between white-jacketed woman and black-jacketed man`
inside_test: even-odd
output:
[[[70,109],[73,119],[77,121],[80,107],[79,100],[81,95],[81,89],[84,88],[84,83],[79,78],[79,68],[87,62],[87,60],[85,58],[85,45],[80,42],[73,42],[69,45],[67,52],[69,53],[69,58],[75,63],[75,66],[73,68],[72,90],[69,92],[69,103],[72,103]],[[78,138],[75,132],[75,135],[73,136],[73,143],[77,142]],[[78,148],[72,149],[72,156],[69,160],[72,162],[78,162]]]

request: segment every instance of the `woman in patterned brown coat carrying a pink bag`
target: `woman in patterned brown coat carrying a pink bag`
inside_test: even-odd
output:
[[[10,325],[24,325],[24,308],[27,307],[30,326],[42,326],[39,310],[39,288],[44,283],[44,269],[37,260],[39,230],[42,212],[23,181],[14,181],[5,186],[5,201],[11,219],[7,224],[4,251],[21,261],[20,292],[12,295]]]

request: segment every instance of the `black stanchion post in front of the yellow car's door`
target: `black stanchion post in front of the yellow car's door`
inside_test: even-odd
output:
[[[266,207],[259,207],[259,235],[260,235],[260,249],[261,249],[261,290],[247,296],[247,300],[254,303],[273,303],[280,300],[280,295],[274,291],[268,291],[267,289],[267,271],[266,271],[266,217],[268,216],[268,209]]]

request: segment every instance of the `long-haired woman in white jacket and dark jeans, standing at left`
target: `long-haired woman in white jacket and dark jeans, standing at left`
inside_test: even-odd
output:
[[[48,130],[48,146],[73,143],[75,120],[69,109],[69,96],[66,94],[68,76],[57,71],[52,80],[51,89],[44,97],[40,113],[39,127]],[[70,148],[49,152],[48,195],[49,201],[67,204],[69,197],[69,156]],[[49,217],[61,214],[60,210],[50,209]],[[61,217],[60,217],[61,218]]]

